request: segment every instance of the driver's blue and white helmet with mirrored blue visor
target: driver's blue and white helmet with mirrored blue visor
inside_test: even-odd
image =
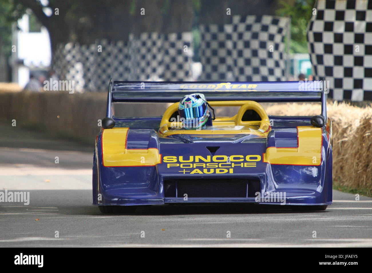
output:
[[[185,95],[178,104],[178,113],[186,129],[212,126],[211,112],[205,96],[201,93]]]

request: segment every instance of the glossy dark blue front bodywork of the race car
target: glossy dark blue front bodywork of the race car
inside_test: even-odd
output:
[[[295,117],[293,120],[297,120]],[[291,123],[291,118],[286,118]],[[307,124],[304,120],[303,123]],[[266,147],[276,145],[285,146],[286,141],[292,143],[292,132],[295,128],[273,128],[266,138],[253,136],[228,136],[205,140],[202,138],[157,138],[155,130],[129,129],[128,147],[144,149],[158,147],[162,158],[166,156],[183,156],[183,160],[190,160],[190,156],[199,155],[206,158],[212,153],[206,147],[219,146],[213,154],[240,155],[242,151],[249,151],[252,155],[262,155]],[[278,134],[278,132],[280,132]],[[156,166],[138,167],[104,167],[102,165],[101,134],[96,143],[96,152],[93,164],[93,204],[95,205],[153,205],[166,203],[204,203],[204,202],[255,202],[254,196],[244,198],[188,198],[184,196],[164,195],[164,181],[170,179],[257,179],[260,181],[260,191],[263,193],[286,192],[286,204],[296,205],[329,205],[332,202],[332,149],[329,135],[323,130],[323,146],[321,151],[321,164],[319,166],[298,165],[271,165],[261,159],[255,167],[244,167],[243,163],[236,162],[233,173],[190,174],[190,163],[184,163],[181,168],[167,168],[162,160]],[[131,136],[131,137],[129,137]],[[137,136],[137,139],[132,136]],[[149,138],[149,136],[152,136]],[[278,136],[283,137],[279,141]],[[150,139],[150,141],[149,141]],[[295,140],[297,142],[297,139]],[[291,144],[292,145],[292,144]],[[294,140],[293,140],[294,145]],[[96,160],[97,158],[101,160]],[[218,158],[218,157],[217,157]],[[187,165],[189,164],[189,165]],[[225,164],[225,163],[222,163]],[[243,165],[239,165],[243,164]],[[228,163],[222,167],[229,166]],[[197,168],[197,169],[202,169]],[[225,168],[221,168],[225,169]],[[211,170],[208,170],[211,171]],[[98,201],[98,194],[102,200]],[[260,202],[261,203],[261,202]],[[265,202],[266,204],[278,204]]]

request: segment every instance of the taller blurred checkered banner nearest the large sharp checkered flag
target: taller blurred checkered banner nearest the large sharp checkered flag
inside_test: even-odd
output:
[[[232,17],[235,81],[284,81],[286,17]]]

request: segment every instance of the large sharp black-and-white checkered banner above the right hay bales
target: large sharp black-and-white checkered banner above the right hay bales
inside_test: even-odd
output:
[[[372,1],[318,0],[308,25],[317,78],[334,100],[372,100]]]

